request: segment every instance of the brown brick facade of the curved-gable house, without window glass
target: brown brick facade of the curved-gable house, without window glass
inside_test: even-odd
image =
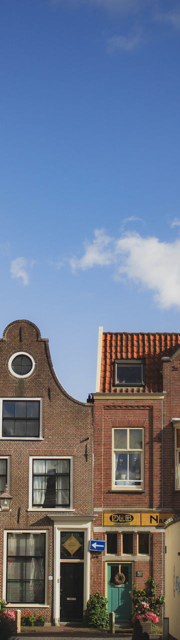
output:
[[[13,374],[10,358],[18,353],[24,353],[30,356],[30,358],[33,358],[34,368],[32,368],[32,372],[30,372],[28,377],[24,377],[22,374],[16,377]],[[19,434],[18,429],[24,428],[24,422],[22,424],[22,422],[18,421],[15,422],[15,429],[17,429],[17,432],[15,432],[16,435],[12,436],[11,429],[14,428],[14,426],[12,426],[12,424],[14,424],[12,423],[12,419],[10,422],[4,420],[4,431],[1,431],[0,463],[3,461],[1,464],[1,476],[3,474],[5,461],[7,460],[10,471],[8,490],[12,494],[13,500],[12,510],[9,513],[3,513],[3,511],[1,512],[0,510],[0,554],[1,559],[3,559],[0,566],[0,593],[1,595],[3,594],[4,598],[8,597],[8,600],[10,600],[10,597],[6,595],[6,579],[9,578],[8,588],[10,589],[9,593],[13,594],[13,598],[15,597],[15,593],[19,594],[22,592],[23,598],[26,598],[22,600],[22,602],[20,602],[20,595],[18,596],[17,602],[14,602],[13,599],[13,609],[17,606],[18,608],[20,607],[22,611],[41,612],[47,621],[55,620],[57,622],[61,619],[62,611],[60,602],[62,597],[60,561],[62,561],[62,563],[63,561],[67,561],[67,564],[71,562],[72,569],[75,567],[75,564],[76,567],[79,566],[77,563],[78,551],[76,550],[74,552],[72,543],[75,544],[74,548],[76,548],[76,544],[79,544],[84,575],[84,591],[81,593],[81,605],[79,605],[79,618],[81,618],[90,590],[90,566],[87,549],[93,514],[92,405],[83,404],[74,400],[61,387],[54,373],[48,340],[42,339],[37,326],[29,321],[15,321],[4,330],[3,339],[0,340],[0,371],[0,398],[2,399],[1,422],[3,411],[13,412],[14,407],[17,413],[21,410],[22,404],[18,404],[18,401],[27,401],[28,403],[28,401],[38,399],[42,407],[42,424],[38,437],[31,437],[31,431],[30,435],[25,437],[17,435]],[[10,401],[11,404],[7,404],[7,402],[4,404],[3,399],[4,401]],[[23,406],[27,408],[28,412],[28,410],[30,411],[30,409],[28,409],[30,405],[27,403],[24,403]],[[34,407],[35,405],[32,405],[31,402],[31,408],[32,406]],[[32,424],[33,428],[35,428],[34,422],[27,422],[27,424],[29,430],[32,428]],[[9,429],[8,435],[6,435],[7,429]],[[40,461],[41,465],[43,461],[43,465],[46,465],[45,468],[47,471],[49,468],[47,461],[52,460],[53,465],[60,465],[58,467],[56,466],[56,469],[61,469],[61,464],[64,465],[65,461],[65,465],[70,469],[71,497],[68,508],[66,504],[63,505],[63,508],[60,506],[56,507],[55,504],[54,508],[51,507],[50,509],[49,506],[45,508],[44,504],[41,504],[40,507],[32,506],[32,477],[30,470],[33,465],[34,456],[36,460]],[[58,472],[56,473],[58,474]],[[45,476],[42,477],[43,483]],[[63,476],[60,475],[60,473],[57,477],[54,492],[56,492],[56,496],[59,496],[59,498],[56,497],[55,500],[57,500],[57,502],[58,500],[67,500],[67,495],[69,495],[67,489],[65,489],[65,497],[62,498],[63,491],[59,493],[57,491],[57,486],[64,486],[63,483],[65,483],[65,480],[63,480]],[[48,483],[48,481],[49,476],[47,475],[45,482]],[[50,481],[52,482],[52,476]],[[69,482],[69,477],[67,477],[66,482]],[[39,479],[37,479],[37,486],[40,486]],[[40,500],[40,490],[38,490],[37,493],[37,500]],[[44,495],[43,490],[42,495]],[[44,498],[41,498],[41,500],[44,500]],[[30,532],[35,532],[36,534],[38,534],[38,532],[45,532],[45,595],[40,596],[40,603],[35,593],[30,596],[30,602],[28,602],[28,595],[24,595],[25,591],[23,591],[23,589],[25,589],[25,582],[26,593],[28,593],[28,589],[35,589],[35,586],[32,587],[33,580],[28,580],[28,561],[27,563],[25,562],[26,576],[23,573],[25,571],[25,564],[22,570],[20,560],[15,570],[13,570],[15,557],[13,557],[14,552],[11,550],[11,546],[9,551],[9,564],[6,571],[7,532],[13,532],[13,534],[19,532],[19,538],[17,538],[17,536],[15,538],[12,537],[12,540],[15,540],[15,545],[19,543],[20,539],[22,541],[25,540],[25,538],[23,538],[23,532],[28,534],[26,536],[26,545],[29,544],[30,539],[28,536]],[[65,550],[65,547],[61,547],[61,549],[63,548],[63,557],[62,552],[60,553],[62,532],[63,535],[67,532],[67,539],[71,536],[70,551]],[[82,545],[77,542],[81,532],[83,536],[85,535],[84,549]],[[8,540],[10,540],[10,538],[8,538]],[[39,538],[35,538],[34,534],[34,538],[31,538],[31,543],[35,546],[37,540],[39,540]],[[65,538],[63,538],[63,540],[65,540]],[[79,540],[81,542],[81,536]],[[70,543],[68,543],[68,545],[69,544]],[[25,552],[22,549],[19,554],[23,555],[23,553]],[[26,554],[27,553],[26,550]],[[36,558],[35,563],[36,562],[38,564],[40,560]],[[12,564],[12,569],[10,564]],[[35,576],[34,572],[30,574],[31,579],[32,575],[33,578],[38,577],[38,573],[37,576]],[[21,591],[19,591],[20,580],[23,583]],[[64,584],[63,589],[65,589]],[[70,596],[72,596],[72,594],[70,594]],[[69,598],[69,603],[71,600]],[[70,619],[73,617],[73,612],[70,611],[70,604],[68,606],[69,610],[63,611],[62,615],[63,617],[69,616]]]

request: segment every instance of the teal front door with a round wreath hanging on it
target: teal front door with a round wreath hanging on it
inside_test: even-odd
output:
[[[125,580],[117,586],[115,576],[123,573]],[[115,622],[129,622],[132,614],[132,564],[108,564],[108,613],[115,612]]]

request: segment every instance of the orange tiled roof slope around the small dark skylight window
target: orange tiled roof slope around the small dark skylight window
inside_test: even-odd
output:
[[[163,356],[172,356],[180,346],[180,333],[102,333],[100,392],[111,393],[114,360],[145,359],[145,388],[117,387],[117,393],[127,390],[161,393]]]

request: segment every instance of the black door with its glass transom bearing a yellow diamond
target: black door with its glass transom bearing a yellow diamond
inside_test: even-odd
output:
[[[83,620],[84,532],[61,531],[60,620]]]

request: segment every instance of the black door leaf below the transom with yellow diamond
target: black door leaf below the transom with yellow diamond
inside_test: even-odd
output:
[[[83,620],[84,563],[61,563],[60,620]]]

